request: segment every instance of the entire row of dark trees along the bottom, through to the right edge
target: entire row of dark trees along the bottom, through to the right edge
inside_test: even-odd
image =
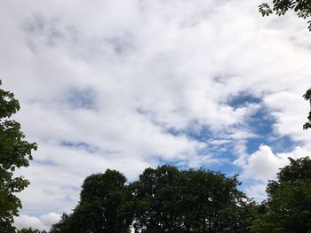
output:
[[[88,176],[72,214],[50,233],[311,232],[311,160],[290,159],[267,185],[261,204],[236,178],[210,170],[147,168],[126,184],[115,170]]]

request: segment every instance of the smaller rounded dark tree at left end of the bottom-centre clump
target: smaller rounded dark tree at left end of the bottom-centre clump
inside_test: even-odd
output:
[[[125,211],[126,178],[115,170],[85,178],[73,213],[63,214],[51,233],[127,233],[132,218]]]

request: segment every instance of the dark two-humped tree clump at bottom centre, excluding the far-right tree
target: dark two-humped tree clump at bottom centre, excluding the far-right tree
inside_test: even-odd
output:
[[[254,204],[234,177],[206,170],[147,168],[137,182],[107,170],[87,177],[72,214],[56,232],[248,232]]]

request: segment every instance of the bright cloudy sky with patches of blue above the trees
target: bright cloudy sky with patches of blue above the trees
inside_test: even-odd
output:
[[[84,178],[134,181],[169,164],[239,174],[266,198],[280,167],[310,155],[302,129],[311,34],[259,0],[2,0],[0,79],[29,142],[15,226],[49,229]]]

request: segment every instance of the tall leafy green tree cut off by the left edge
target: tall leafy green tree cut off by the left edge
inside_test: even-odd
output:
[[[0,85],[1,85],[0,81]],[[28,143],[20,131],[20,123],[9,120],[20,110],[13,93],[0,89],[0,232],[12,232],[13,216],[18,216],[20,199],[15,196],[28,186],[24,177],[13,177],[16,168],[28,167],[36,143]]]

